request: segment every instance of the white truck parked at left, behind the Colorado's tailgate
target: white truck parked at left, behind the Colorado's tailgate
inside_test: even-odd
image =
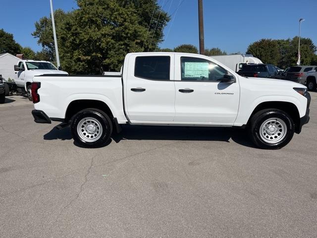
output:
[[[20,60],[17,65],[14,65],[14,71],[17,91],[26,92],[30,101],[32,101],[31,83],[34,76],[41,74],[68,74],[65,71],[58,70],[49,61],[37,60]]]

